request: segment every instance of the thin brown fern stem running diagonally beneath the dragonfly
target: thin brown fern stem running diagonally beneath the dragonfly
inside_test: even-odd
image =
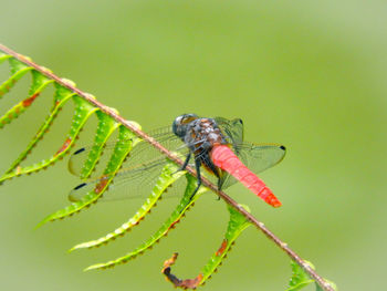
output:
[[[4,46],[3,44],[0,43],[0,50],[3,51],[7,54],[10,54],[18,59],[19,61],[25,63],[29,66],[34,67],[38,72],[41,74],[55,80],[59,84],[62,86],[71,90],[72,92],[76,93],[80,95],[82,98],[86,100],[88,103],[93,104],[94,106],[98,107],[102,112],[105,114],[109,115],[112,118],[114,118],[117,123],[121,123],[128,129],[130,129],[135,135],[138,137],[143,138],[150,145],[153,145],[155,148],[157,148],[160,153],[166,155],[169,159],[175,162],[176,164],[182,166],[184,162],[176,157],[172,153],[170,153],[167,148],[165,148],[163,145],[160,145],[155,138],[151,136],[148,136],[146,133],[143,131],[138,129],[133,123],[126,121],[124,117],[118,115],[115,111],[113,111],[111,107],[107,107],[106,105],[100,103],[93,96],[88,93],[85,93],[81,91],[80,89],[76,89],[65,80],[62,80],[61,77],[56,76],[53,74],[51,71],[46,70],[43,66],[40,66],[29,60],[29,58],[25,58],[22,54],[19,54],[11,49]],[[186,167],[187,172],[189,172],[190,175],[197,177],[197,174],[195,169],[191,167],[187,166]],[[241,215],[243,215],[247,219],[251,221],[258,229],[260,229],[270,240],[272,240],[280,249],[282,249],[284,252],[287,253],[287,256],[294,260],[300,267],[313,279],[316,281],[316,283],[324,290],[324,291],[334,291],[334,289],[331,287],[328,282],[326,282],[320,274],[315,272],[301,257],[295,253],[289,246],[287,243],[283,242],[279,237],[276,237],[272,231],[270,231],[263,222],[259,221],[255,217],[253,217],[251,214],[249,214],[247,210],[244,210],[242,207],[238,205],[236,200],[233,200],[231,197],[229,197],[227,194],[224,194],[221,190],[218,190],[218,187],[210,183],[208,179],[205,177],[201,178],[202,185],[205,185],[207,188],[211,189],[213,193],[216,193],[219,197],[221,197],[227,204],[231,205],[234,209],[237,209]]]

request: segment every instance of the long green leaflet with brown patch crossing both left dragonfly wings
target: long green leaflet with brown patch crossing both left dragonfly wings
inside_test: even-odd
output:
[[[113,180],[115,174],[121,168],[124,159],[126,158],[133,146],[136,145],[138,142],[139,139],[135,137],[135,135],[129,129],[127,129],[125,126],[119,126],[118,141],[114,147],[111,159],[107,163],[107,166],[104,170],[104,176],[106,178],[101,179],[101,183],[98,183],[95,186],[94,190],[87,193],[85,196],[82,197],[81,200],[72,202],[70,206],[48,216],[36,227],[40,227],[48,221],[53,221],[74,215],[75,212],[81,211],[83,208],[96,202]]]

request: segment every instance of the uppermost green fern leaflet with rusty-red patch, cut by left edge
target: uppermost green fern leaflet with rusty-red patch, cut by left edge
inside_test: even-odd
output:
[[[34,102],[34,100],[39,96],[42,90],[53,82],[53,80],[48,79],[38,71],[32,71],[32,85],[30,89],[29,96],[25,100],[19,102],[17,105],[10,108],[2,117],[0,117],[0,129],[4,127],[4,125],[11,123],[13,119],[18,118],[20,114],[22,114]]]

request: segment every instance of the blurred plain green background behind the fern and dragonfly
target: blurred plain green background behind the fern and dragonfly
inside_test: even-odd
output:
[[[241,117],[247,141],[286,145],[285,159],[261,175],[282,208],[240,185],[228,193],[341,290],[386,288],[385,1],[3,0],[0,13],[0,42],[74,80],[144,129],[194,112]],[[2,112],[25,96],[28,84],[1,101]],[[38,129],[51,93],[2,131],[1,170]],[[69,105],[28,162],[60,147],[71,113]],[[90,143],[93,124],[79,145]],[[33,230],[67,204],[77,183],[65,159],[0,188],[0,290],[171,290],[160,274],[165,259],[178,251],[174,272],[192,278],[221,242],[228,214],[209,194],[151,252],[84,273],[139,245],[178,200],[164,200],[143,227],[107,247],[69,254],[124,222],[140,202],[98,204]],[[203,290],[284,290],[290,273],[289,258],[250,228]]]

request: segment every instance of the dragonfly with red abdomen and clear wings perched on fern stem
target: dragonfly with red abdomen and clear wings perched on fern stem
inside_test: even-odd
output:
[[[257,174],[276,165],[285,155],[285,147],[280,144],[254,144],[243,142],[243,122],[240,118],[199,117],[196,114],[182,114],[175,118],[171,126],[148,133],[158,143],[185,157],[179,170],[189,165],[197,172],[197,187],[201,186],[202,176],[226,189],[240,181],[249,190],[273,207],[280,207],[280,200]],[[104,154],[113,149],[113,144],[105,147]],[[76,150],[70,158],[69,169],[80,176],[83,160],[91,147]],[[147,186],[154,186],[166,165],[166,157],[146,142],[134,146],[130,157],[115,174],[109,191],[125,189],[125,197],[138,197],[149,194]],[[203,170],[202,170],[203,169]],[[71,201],[80,200],[96,187],[106,175],[91,177],[77,185],[69,195]]]

